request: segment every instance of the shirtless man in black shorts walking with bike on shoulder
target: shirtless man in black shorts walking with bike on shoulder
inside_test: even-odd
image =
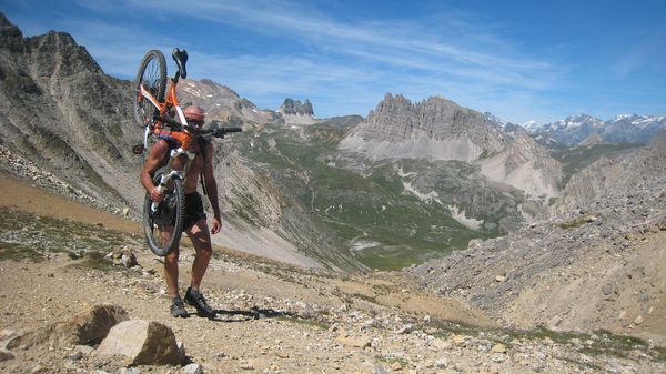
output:
[[[205,120],[205,112],[203,109],[190,105],[185,108],[183,113],[190,125],[194,128],[201,128],[203,125]],[[143,188],[148,191],[151,200],[154,202],[162,201],[164,193],[153,183],[153,174],[162,166],[163,161],[169,158],[170,150],[178,146],[174,143],[175,141],[168,137],[160,138],[152,146],[143,165],[143,170],[141,171],[141,184],[143,184]],[[201,280],[205,274],[213,253],[211,234],[216,234],[222,229],[220,204],[218,201],[218,184],[213,175],[213,145],[208,141],[194,142],[189,151],[194,152],[195,156],[192,160],[183,184],[183,190],[185,192],[183,232],[190,237],[196,255],[194,257],[194,263],[192,264],[192,279],[190,281],[190,286],[185,292],[184,301],[194,306],[198,314],[206,317],[214,317],[215,312],[208,305],[205,299],[199,291]],[[183,170],[185,162],[186,156],[181,156],[174,161],[173,168],[175,170]],[[213,208],[213,226],[210,229],[210,232],[205,213],[203,212],[203,202],[201,195],[196,192],[199,175],[203,175],[203,184]],[[171,232],[169,232],[169,228],[165,228],[165,231],[167,235],[171,235],[173,228],[171,228]],[[169,237],[165,237],[164,240],[169,240]],[[164,280],[167,282],[169,295],[171,296],[171,315],[174,317],[184,317],[189,314],[180,297],[178,289],[179,254],[179,246],[176,246],[164,256]]]

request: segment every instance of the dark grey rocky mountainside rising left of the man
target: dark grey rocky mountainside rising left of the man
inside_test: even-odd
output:
[[[0,135],[18,155],[64,179],[100,205],[138,201],[141,160],[128,144],[127,82],[103,74],[65,33],[23,39],[0,14]],[[117,191],[123,191],[122,194]]]

